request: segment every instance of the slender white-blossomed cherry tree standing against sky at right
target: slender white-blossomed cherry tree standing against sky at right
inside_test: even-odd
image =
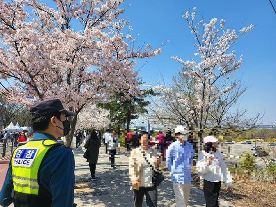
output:
[[[196,7],[191,14],[187,11],[182,16],[187,20],[191,33],[194,35],[195,58],[184,61],[177,56],[171,57],[185,68],[182,72],[187,76],[189,83],[193,82],[190,85],[191,88],[173,94],[175,96],[173,100],[170,100],[172,88],[161,85],[155,89],[161,93],[159,97],[161,100],[183,104],[184,113],[187,114],[185,121],[198,125],[202,131],[202,125],[210,117],[211,108],[225,94],[239,85],[233,80],[232,75],[241,68],[243,59],[242,56],[239,58],[236,56],[232,47],[241,35],[253,29],[253,25],[239,31],[224,29],[224,19],[221,19],[220,23],[217,23],[217,18],[211,19],[208,23],[203,20],[195,23],[195,14]]]

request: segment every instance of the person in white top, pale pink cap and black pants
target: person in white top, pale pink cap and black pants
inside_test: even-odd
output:
[[[223,160],[221,152],[216,150],[217,138],[207,136],[203,139],[205,150],[198,156],[197,170],[204,180],[203,191],[206,207],[218,207],[218,195],[221,181],[227,185],[227,190],[232,190],[232,177]]]

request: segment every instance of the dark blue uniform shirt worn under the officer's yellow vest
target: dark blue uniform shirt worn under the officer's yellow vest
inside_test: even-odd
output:
[[[45,133],[35,133],[35,139],[57,140],[54,136]],[[51,149],[39,169],[40,184],[52,195],[52,207],[73,207],[75,184],[75,161],[70,148],[57,146]],[[0,206],[7,207],[12,203],[11,191],[12,168],[11,162],[0,191]]]

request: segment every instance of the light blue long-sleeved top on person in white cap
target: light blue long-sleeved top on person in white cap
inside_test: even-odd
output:
[[[166,165],[173,182],[190,183],[192,179],[191,166],[195,150],[188,141],[181,144],[179,140],[173,142],[166,151]]]

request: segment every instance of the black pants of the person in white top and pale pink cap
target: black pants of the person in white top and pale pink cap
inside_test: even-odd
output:
[[[203,180],[203,192],[206,201],[206,207],[218,207],[218,195],[221,182],[210,182]]]

